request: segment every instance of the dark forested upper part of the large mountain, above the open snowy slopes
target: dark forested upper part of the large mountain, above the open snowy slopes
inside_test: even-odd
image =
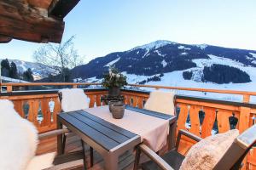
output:
[[[88,64],[74,68],[73,77],[99,79],[102,78],[103,72],[108,71],[110,65],[115,65],[119,71],[125,71],[128,74],[154,76],[160,73],[196,68],[198,67],[196,59],[212,60],[211,56],[238,61],[245,66],[256,66],[256,50],[158,40],[123,52],[113,52],[92,59]],[[223,65],[222,62],[215,64]]]

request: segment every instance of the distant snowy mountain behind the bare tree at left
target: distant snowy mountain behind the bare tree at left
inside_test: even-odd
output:
[[[2,59],[0,59],[1,61]],[[39,63],[24,61],[20,59],[9,59],[9,63],[15,62],[18,72],[23,73],[28,68],[32,69],[33,77],[35,80],[42,79],[44,77],[48,77],[49,74],[55,75],[55,71],[49,68],[47,65],[42,65]]]

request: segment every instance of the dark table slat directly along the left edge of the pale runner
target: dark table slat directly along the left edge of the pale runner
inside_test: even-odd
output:
[[[107,122],[107,121],[105,121],[104,119],[102,119],[102,118],[100,118],[98,116],[91,115],[90,113],[88,113],[86,111],[77,111],[77,112],[83,113],[83,116],[86,116],[86,117],[88,117],[88,118],[90,118],[90,119],[92,119],[92,120],[102,124],[103,126],[112,129],[113,131],[115,131],[117,133],[123,134],[124,136],[128,137],[129,139],[137,136],[137,134],[135,134],[135,133],[131,133],[130,131],[125,130],[122,127],[118,127],[118,126],[114,125],[113,123]],[[84,113],[86,113],[86,114],[84,114]]]

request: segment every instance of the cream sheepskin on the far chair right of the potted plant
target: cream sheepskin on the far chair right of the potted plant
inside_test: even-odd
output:
[[[144,109],[174,115],[174,96],[175,94],[173,92],[163,92],[159,90],[151,92]]]

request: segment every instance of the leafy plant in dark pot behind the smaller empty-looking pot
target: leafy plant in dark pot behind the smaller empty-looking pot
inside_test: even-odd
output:
[[[121,74],[116,68],[109,67],[108,74],[104,75],[102,86],[108,88],[109,96],[119,96],[120,88],[127,85],[126,77]]]

